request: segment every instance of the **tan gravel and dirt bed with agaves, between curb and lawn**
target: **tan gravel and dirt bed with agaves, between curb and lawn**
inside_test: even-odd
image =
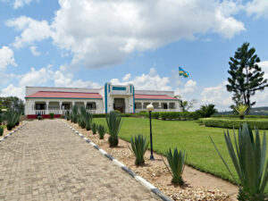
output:
[[[65,121],[65,120],[64,120]],[[164,166],[163,155],[154,153],[155,161],[150,161],[150,152],[145,155],[146,164],[143,166],[135,165],[135,156],[130,151],[130,143],[119,139],[119,147],[109,147],[108,135],[104,139],[99,139],[98,134],[93,135],[92,131],[83,130],[78,124],[66,121],[71,127],[79,130],[86,138],[93,141],[98,147],[104,149],[114,158],[127,165],[133,172],[151,182],[156,188],[159,188],[174,200],[192,200],[192,201],[235,201],[239,188],[226,180],[217,178],[205,172],[199,172],[196,169],[186,165],[183,172],[183,180],[186,185],[183,188],[172,185],[172,176]]]

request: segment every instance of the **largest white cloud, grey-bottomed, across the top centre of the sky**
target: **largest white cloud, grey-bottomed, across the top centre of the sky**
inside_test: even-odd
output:
[[[223,0],[61,0],[54,44],[88,67],[121,63],[130,53],[214,32],[232,38],[245,30],[233,18],[239,4]],[[100,14],[102,13],[102,14]]]

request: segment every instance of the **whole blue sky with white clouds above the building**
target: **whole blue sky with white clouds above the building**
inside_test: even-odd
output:
[[[267,10],[266,0],[0,0],[1,96],[107,81],[178,94],[180,84],[196,107],[225,110],[229,57],[243,42],[268,78]],[[267,106],[268,89],[255,100]]]

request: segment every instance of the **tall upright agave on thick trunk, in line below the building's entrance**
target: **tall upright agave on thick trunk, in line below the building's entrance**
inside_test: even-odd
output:
[[[106,115],[107,128],[110,133],[109,145],[110,147],[118,146],[118,133],[121,129],[121,115],[113,111]]]

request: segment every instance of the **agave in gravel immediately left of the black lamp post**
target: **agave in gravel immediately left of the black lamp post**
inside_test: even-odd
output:
[[[147,138],[143,138],[142,135],[138,134],[134,138],[130,138],[131,143],[131,151],[136,157],[135,164],[141,165],[144,164],[144,155],[147,151],[147,147],[149,143],[147,142]]]

